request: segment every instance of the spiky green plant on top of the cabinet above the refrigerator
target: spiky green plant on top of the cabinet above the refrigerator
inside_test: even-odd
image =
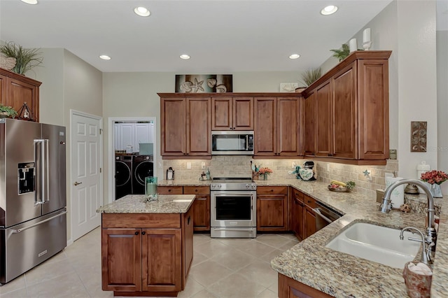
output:
[[[23,48],[22,45],[15,44],[13,41],[0,45],[0,52],[3,55],[15,58],[15,66],[11,71],[20,74],[24,74],[42,63],[43,57],[39,57],[41,55],[39,50],[40,48]]]

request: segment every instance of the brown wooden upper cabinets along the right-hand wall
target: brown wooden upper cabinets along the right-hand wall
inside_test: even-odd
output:
[[[304,155],[386,164],[390,55],[391,51],[355,51],[302,92]]]

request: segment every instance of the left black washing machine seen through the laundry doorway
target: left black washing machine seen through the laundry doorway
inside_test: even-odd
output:
[[[132,194],[132,155],[115,157],[115,199]]]

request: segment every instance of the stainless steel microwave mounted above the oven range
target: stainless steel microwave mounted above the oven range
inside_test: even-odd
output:
[[[253,131],[212,131],[211,155],[253,155]]]

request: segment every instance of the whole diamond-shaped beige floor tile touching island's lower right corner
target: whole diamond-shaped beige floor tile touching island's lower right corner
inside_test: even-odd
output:
[[[190,277],[207,288],[212,283],[232,274],[232,270],[218,264],[217,262],[207,260],[201,264],[191,267]]]

